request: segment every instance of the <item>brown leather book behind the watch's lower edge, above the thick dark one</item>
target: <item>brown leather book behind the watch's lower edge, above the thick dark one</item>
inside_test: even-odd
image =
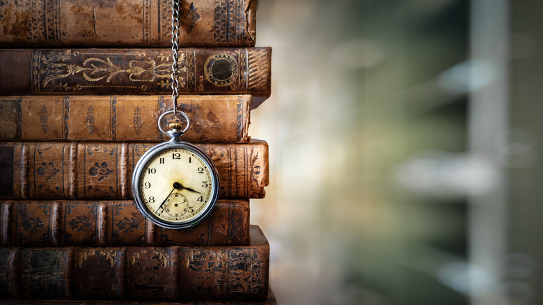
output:
[[[0,201],[0,245],[225,246],[249,244],[249,200],[217,201],[200,224],[155,226],[133,201]]]

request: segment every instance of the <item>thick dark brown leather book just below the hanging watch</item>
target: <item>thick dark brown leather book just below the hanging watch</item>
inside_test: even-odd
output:
[[[248,246],[2,247],[4,299],[264,299],[269,244]]]

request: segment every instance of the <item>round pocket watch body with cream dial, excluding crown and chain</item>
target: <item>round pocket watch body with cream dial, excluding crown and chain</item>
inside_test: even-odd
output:
[[[218,178],[197,151],[174,146],[142,157],[136,166],[134,197],[143,214],[165,227],[201,221],[217,201]]]

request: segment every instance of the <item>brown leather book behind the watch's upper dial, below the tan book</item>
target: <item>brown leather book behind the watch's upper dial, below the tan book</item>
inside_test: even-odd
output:
[[[263,198],[268,145],[197,144],[219,171],[219,198]],[[0,142],[0,198],[132,198],[132,171],[155,143]]]

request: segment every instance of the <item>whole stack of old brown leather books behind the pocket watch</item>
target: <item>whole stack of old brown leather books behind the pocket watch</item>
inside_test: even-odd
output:
[[[271,84],[255,10],[180,1],[181,139],[210,155],[221,187],[203,222],[174,230],[131,191],[136,162],[167,140],[171,1],[0,1],[3,303],[275,304],[269,244],[249,224],[269,179],[267,143],[248,134]]]

